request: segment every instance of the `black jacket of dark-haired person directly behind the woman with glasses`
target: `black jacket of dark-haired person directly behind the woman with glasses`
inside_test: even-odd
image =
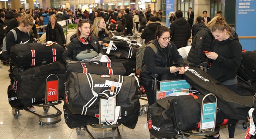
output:
[[[141,34],[141,38],[145,39],[145,43],[154,40],[156,38],[156,31],[157,27],[161,26],[161,22],[149,22],[146,24],[147,27],[144,29],[144,31]]]

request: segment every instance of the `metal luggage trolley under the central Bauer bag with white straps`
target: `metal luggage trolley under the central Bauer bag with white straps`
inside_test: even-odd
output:
[[[112,86],[113,87],[113,86]],[[111,89],[112,90],[112,89]],[[121,125],[121,123],[118,123],[118,122],[113,122],[113,125],[106,121],[106,117],[107,116],[110,116],[112,118],[114,118],[113,120],[116,120],[117,121],[117,118],[118,118],[118,114],[117,114],[117,111],[116,111],[116,97],[113,98],[113,101],[111,101],[111,103],[109,103],[109,100],[107,97],[102,97],[102,96],[98,96],[99,97],[99,124],[90,124],[90,126],[92,128],[95,128],[95,129],[112,129],[113,132],[115,132],[115,130],[117,130],[117,135],[116,136],[110,136],[110,137],[101,137],[101,138],[95,138],[91,132],[88,130],[88,127],[87,125],[85,126],[82,126],[82,127],[78,127],[76,128],[77,130],[77,135],[80,135],[80,132],[81,132],[81,129],[84,129],[86,130],[86,132],[88,132],[88,134],[90,135],[90,137],[92,139],[121,139],[121,134],[120,134],[120,131],[118,129],[118,126]],[[109,107],[112,106],[112,111],[114,113],[112,114],[109,114],[108,111],[109,111]],[[119,111],[118,111],[119,113]],[[102,115],[105,115],[105,117],[102,117]],[[109,125],[107,125],[106,123],[108,122]]]

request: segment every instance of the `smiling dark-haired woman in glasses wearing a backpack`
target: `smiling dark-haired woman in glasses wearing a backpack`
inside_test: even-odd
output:
[[[146,91],[149,105],[155,102],[154,90],[152,90],[152,73],[157,73],[160,77],[163,74],[185,73],[184,61],[179,55],[177,47],[170,42],[170,30],[165,26],[159,26],[156,31],[156,39],[151,42],[152,46],[147,46],[144,52],[143,62],[145,63],[140,72],[140,80]],[[157,52],[152,49],[156,47]],[[172,61],[180,67],[172,66]]]

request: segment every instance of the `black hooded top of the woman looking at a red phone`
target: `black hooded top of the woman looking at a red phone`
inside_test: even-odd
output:
[[[232,35],[221,42],[214,40],[210,51],[216,52],[218,57],[216,60],[207,59],[212,64],[207,73],[221,83],[234,79],[241,63],[242,46],[237,33],[233,31]]]

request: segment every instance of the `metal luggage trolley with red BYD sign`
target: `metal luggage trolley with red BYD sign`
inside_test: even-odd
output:
[[[61,104],[62,101],[59,101],[59,77],[55,74],[50,74],[46,78],[45,82],[45,104],[33,104],[34,106],[43,107],[44,112],[49,111],[50,106],[55,108],[57,112],[50,115],[39,115],[35,112],[29,111],[28,108],[25,108],[25,111],[37,115],[39,117],[39,125],[43,126],[44,124],[56,124],[61,121],[62,112],[55,107],[55,105]],[[12,112],[15,118],[18,118],[19,110],[12,108]]]

